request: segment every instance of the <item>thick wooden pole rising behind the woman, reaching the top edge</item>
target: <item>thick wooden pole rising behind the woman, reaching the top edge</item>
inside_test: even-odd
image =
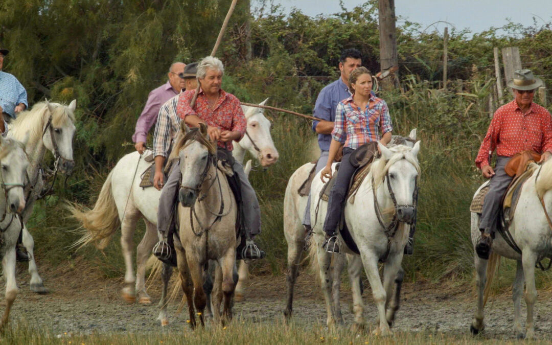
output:
[[[379,0],[379,31],[380,31],[380,70],[385,71],[398,65],[397,31],[395,28],[395,0]],[[393,79],[381,81],[383,89],[399,87],[399,73]]]

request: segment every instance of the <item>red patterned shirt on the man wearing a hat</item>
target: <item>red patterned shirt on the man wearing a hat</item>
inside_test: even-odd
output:
[[[489,165],[495,148],[498,156],[506,157],[524,150],[552,152],[552,118],[548,110],[531,103],[527,113],[522,113],[515,99],[502,105],[492,118],[475,165],[480,169]]]

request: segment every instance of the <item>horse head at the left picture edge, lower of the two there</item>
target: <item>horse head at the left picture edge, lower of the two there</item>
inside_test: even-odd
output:
[[[0,136],[0,184],[6,197],[4,217],[8,207],[12,213],[21,213],[25,208],[23,187],[29,165],[25,144]]]

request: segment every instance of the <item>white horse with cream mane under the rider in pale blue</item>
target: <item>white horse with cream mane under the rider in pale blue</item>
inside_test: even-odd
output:
[[[73,162],[73,135],[75,134],[75,107],[76,100],[68,106],[59,103],[36,103],[28,111],[19,113],[9,125],[8,136],[16,140],[26,141],[25,151],[29,155],[27,175],[29,185],[25,188],[26,206],[23,210],[23,221],[29,220],[33,213],[34,202],[43,192],[44,181],[42,176],[42,162],[46,150],[52,152],[55,167],[62,174],[70,174],[75,166]],[[52,181],[53,183],[53,181]],[[34,257],[34,240],[26,227],[23,228],[23,245],[29,252],[29,282],[31,291],[46,293],[44,283],[38,274]]]

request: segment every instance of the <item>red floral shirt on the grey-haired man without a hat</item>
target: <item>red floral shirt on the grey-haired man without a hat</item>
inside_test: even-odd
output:
[[[178,99],[177,115],[181,119],[184,119],[187,115],[197,115],[209,126],[217,127],[221,130],[238,131],[240,132],[241,140],[247,128],[247,120],[240,106],[240,100],[235,95],[221,90],[219,100],[216,102],[215,107],[211,109],[205,93],[203,90],[200,90],[194,110],[190,108],[190,102],[192,102],[194,93],[195,90],[189,90],[181,94],[180,99]],[[229,151],[233,150],[231,141],[218,141],[216,144]]]

